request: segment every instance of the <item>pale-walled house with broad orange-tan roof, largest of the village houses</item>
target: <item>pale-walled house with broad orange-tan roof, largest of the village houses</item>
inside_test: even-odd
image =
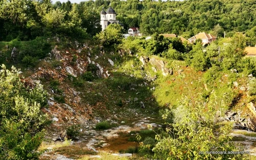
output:
[[[197,35],[189,38],[188,40],[191,42],[191,43],[195,43],[197,39],[201,39],[202,40],[202,43],[203,45],[205,44],[209,44],[211,43],[212,41],[215,41],[216,40],[216,36],[212,35],[212,34],[207,34],[205,32],[200,32],[198,33]]]

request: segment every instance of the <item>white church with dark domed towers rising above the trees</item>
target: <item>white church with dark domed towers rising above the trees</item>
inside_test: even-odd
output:
[[[100,25],[102,31],[106,29],[106,27],[108,27],[110,24],[119,24],[123,28],[123,25],[119,22],[119,20],[116,20],[116,12],[111,7],[106,10],[106,12],[104,9],[102,9],[100,12]]]

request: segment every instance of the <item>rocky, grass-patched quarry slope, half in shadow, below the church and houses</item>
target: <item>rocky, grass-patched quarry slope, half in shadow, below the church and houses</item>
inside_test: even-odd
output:
[[[176,108],[184,96],[201,96],[205,100],[215,96],[219,122],[234,122],[234,128],[255,131],[255,100],[250,96],[250,82],[255,79],[252,75],[244,76],[236,70],[216,72],[213,68],[196,72],[185,61],[147,57],[122,49],[115,53],[91,42],[51,38],[48,43],[51,52],[46,58],[35,67],[22,67],[21,74],[27,86],[40,83],[48,91],[48,107],[43,111],[53,123],[47,128],[47,141],[62,141],[67,128],[80,125],[84,140],[93,142],[87,148],[94,151],[95,146],[111,144],[105,133],[92,131],[99,122],[132,128],[141,122],[144,128],[151,123],[163,125],[164,109]],[[18,57],[18,50],[9,50],[16,52],[13,59]],[[112,133],[119,135],[120,128]]]

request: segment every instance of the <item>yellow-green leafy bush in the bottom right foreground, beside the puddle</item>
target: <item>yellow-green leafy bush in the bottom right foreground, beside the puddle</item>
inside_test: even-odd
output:
[[[236,151],[230,143],[230,125],[216,123],[215,98],[203,105],[201,100],[183,98],[174,110],[175,123],[168,124],[165,136],[156,135],[153,148],[157,159],[242,159],[239,154],[201,154],[201,151]],[[181,112],[184,110],[185,112]],[[163,117],[165,119],[166,117]],[[167,135],[167,136],[166,136]],[[142,143],[142,147],[148,147]]]

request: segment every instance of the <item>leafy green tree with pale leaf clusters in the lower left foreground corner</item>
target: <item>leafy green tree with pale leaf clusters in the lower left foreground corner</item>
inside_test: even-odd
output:
[[[0,159],[37,159],[48,116],[41,112],[47,93],[41,85],[25,87],[19,70],[0,71]]]

